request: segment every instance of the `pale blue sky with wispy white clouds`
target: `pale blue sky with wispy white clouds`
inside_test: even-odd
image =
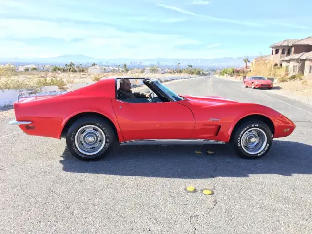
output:
[[[219,58],[312,36],[311,0],[0,0],[0,57]]]

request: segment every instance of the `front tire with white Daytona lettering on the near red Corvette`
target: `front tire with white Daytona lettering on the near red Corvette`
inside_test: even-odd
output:
[[[244,139],[246,139],[246,136],[249,135],[249,137],[253,137],[255,135],[254,132],[258,132],[259,135],[259,144],[258,144],[258,150],[254,149],[254,152],[251,152],[250,150],[246,149],[246,147],[243,147]],[[266,140],[265,140],[265,137]],[[234,150],[238,154],[238,156],[245,158],[245,159],[257,159],[265,156],[271,146],[272,146],[272,131],[269,128],[268,125],[266,125],[264,122],[257,120],[257,119],[250,119],[246,122],[243,122],[234,132],[232,139],[232,144],[234,146]],[[248,138],[248,137],[247,137]],[[249,138],[251,141],[254,140],[253,138]],[[262,141],[260,140],[262,139]],[[254,143],[254,142],[251,142]],[[260,146],[261,145],[261,146]],[[249,152],[247,152],[249,151]],[[258,152],[259,151],[259,152]]]

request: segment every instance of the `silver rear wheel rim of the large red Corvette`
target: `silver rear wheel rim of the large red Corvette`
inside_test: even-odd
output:
[[[75,145],[85,155],[97,154],[104,148],[105,142],[103,130],[95,125],[83,126],[75,135]]]

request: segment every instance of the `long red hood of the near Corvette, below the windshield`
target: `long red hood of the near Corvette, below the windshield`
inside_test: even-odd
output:
[[[237,101],[219,97],[219,96],[193,96],[193,95],[181,95],[190,102],[196,102],[197,105],[219,105],[219,104],[232,104],[238,103]]]

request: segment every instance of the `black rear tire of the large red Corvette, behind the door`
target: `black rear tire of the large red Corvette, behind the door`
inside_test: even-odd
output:
[[[98,152],[94,151],[94,153],[92,153],[92,152],[83,151],[84,149],[83,147],[88,146],[87,145],[88,135],[82,141],[78,140],[78,137],[80,136],[80,134],[83,135],[83,130],[84,130],[83,128],[89,128],[89,130],[85,130],[85,132],[89,131],[91,133],[90,134],[91,140],[93,139],[94,142],[98,143],[99,145],[97,149]],[[76,135],[77,135],[77,143],[75,143]],[[93,137],[93,136],[96,136],[96,137]],[[101,137],[102,137],[102,140],[98,140]],[[111,125],[107,121],[99,117],[81,117],[81,118],[78,118],[78,120],[75,121],[68,129],[68,132],[66,135],[66,144],[70,153],[74,157],[78,158],[79,160],[96,161],[108,155],[108,153],[111,151],[113,147],[114,139],[115,139],[114,130],[112,129]],[[79,147],[79,144],[81,148]],[[90,147],[89,149],[93,150],[92,148],[96,148],[96,147]],[[87,152],[87,153],[84,153],[84,152]]]

